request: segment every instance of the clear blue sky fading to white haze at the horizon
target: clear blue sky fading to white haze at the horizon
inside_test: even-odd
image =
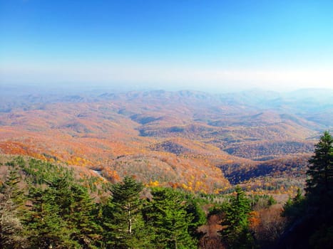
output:
[[[0,0],[0,84],[333,88],[333,1]]]

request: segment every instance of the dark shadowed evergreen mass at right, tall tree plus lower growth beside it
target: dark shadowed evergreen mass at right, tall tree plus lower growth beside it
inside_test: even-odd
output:
[[[282,215],[290,221],[280,248],[333,247],[333,138],[324,132],[309,159],[305,198],[297,193]]]

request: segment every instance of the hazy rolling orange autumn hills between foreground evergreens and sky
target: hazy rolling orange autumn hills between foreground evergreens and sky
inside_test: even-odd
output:
[[[196,191],[229,186],[220,166],[240,177],[232,183],[277,177],[285,158],[304,169],[299,157],[333,127],[332,90],[8,92],[0,100],[0,153],[98,168],[111,181],[136,170],[148,183]]]

